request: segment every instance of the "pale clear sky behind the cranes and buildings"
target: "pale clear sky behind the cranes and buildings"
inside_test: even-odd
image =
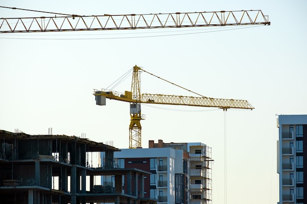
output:
[[[0,6],[86,16],[262,10],[271,25],[0,33],[0,129],[37,135],[52,128],[54,135],[86,134],[128,148],[129,104],[97,106],[93,89],[109,87],[137,65],[201,95],[255,107],[142,105],[143,148],[158,139],[205,143],[214,159],[213,204],[279,202],[277,115],[307,114],[306,1],[10,0]],[[0,18],[42,15],[49,14],[0,8]],[[114,90],[130,86],[131,75]],[[144,72],[141,92],[193,95]]]

